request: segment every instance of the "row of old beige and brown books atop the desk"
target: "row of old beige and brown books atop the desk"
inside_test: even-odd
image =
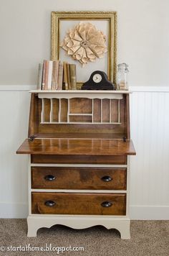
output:
[[[76,65],[60,60],[44,60],[39,63],[38,90],[76,90]]]

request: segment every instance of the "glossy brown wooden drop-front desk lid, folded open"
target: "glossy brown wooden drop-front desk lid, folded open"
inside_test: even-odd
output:
[[[132,140],[114,139],[26,139],[18,154],[31,155],[135,155]]]

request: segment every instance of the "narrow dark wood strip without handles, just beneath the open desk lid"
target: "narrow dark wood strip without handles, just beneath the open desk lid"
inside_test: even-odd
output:
[[[91,163],[126,165],[126,155],[31,155],[31,163]]]

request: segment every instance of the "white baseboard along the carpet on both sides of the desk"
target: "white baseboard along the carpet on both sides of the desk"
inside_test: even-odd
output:
[[[28,204],[0,204],[0,219],[25,219]],[[169,206],[130,206],[130,219],[168,220]]]

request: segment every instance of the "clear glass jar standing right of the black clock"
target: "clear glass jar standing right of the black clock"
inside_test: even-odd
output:
[[[121,63],[117,65],[117,90],[128,90],[128,65]]]

